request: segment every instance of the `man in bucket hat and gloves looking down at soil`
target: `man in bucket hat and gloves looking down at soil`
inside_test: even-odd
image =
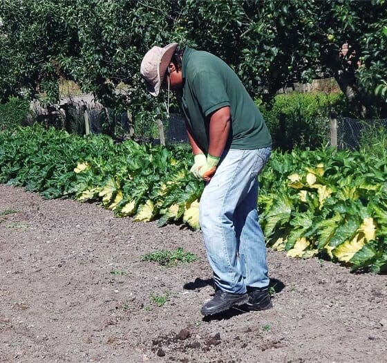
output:
[[[270,157],[272,138],[238,76],[215,55],[172,43],[154,46],[142,59],[148,91],[176,91],[185,114],[194,164],[205,181],[199,222],[216,293],[203,315],[246,304],[272,307],[266,250],[258,223],[258,174]]]

